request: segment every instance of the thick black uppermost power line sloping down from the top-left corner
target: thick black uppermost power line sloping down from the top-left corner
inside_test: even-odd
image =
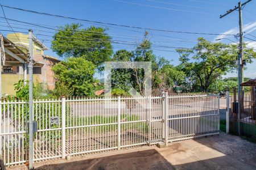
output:
[[[15,10],[26,11],[26,12],[32,12],[32,13],[34,13],[34,14],[47,15],[47,16],[54,16],[54,17],[57,17],[57,18],[64,18],[64,19],[80,20],[80,21],[82,21],[82,22],[90,22],[90,23],[114,25],[114,26],[118,26],[118,27],[136,28],[136,29],[143,29],[143,30],[146,29],[146,30],[161,31],[161,32],[188,33],[188,34],[195,34],[195,35],[226,35],[226,36],[234,36],[234,35],[231,35],[231,34],[173,31],[173,30],[165,30],[165,29],[155,29],[155,28],[137,27],[137,26],[131,26],[131,25],[122,25],[122,24],[114,24],[114,23],[97,22],[97,21],[93,21],[93,20],[72,18],[72,17],[69,17],[69,16],[54,15],[54,14],[48,14],[48,13],[45,13],[45,12],[38,12],[38,11],[26,10],[26,9],[23,9],[23,8],[16,8],[16,7],[10,7],[10,6],[5,6],[5,5],[2,5],[2,6],[3,6],[3,7],[7,7],[7,8],[12,8],[12,9],[15,9]],[[42,27],[43,27],[43,26],[42,26]]]

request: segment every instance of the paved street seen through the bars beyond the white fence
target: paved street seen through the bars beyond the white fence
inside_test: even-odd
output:
[[[207,111],[216,111],[217,101],[185,101],[180,103],[172,103],[169,106],[169,115],[177,114],[195,114]],[[117,102],[112,104],[108,103],[74,103],[71,104],[72,114],[81,117],[91,117],[91,116],[117,116]],[[127,103],[121,103],[121,114],[133,114],[145,119],[149,114],[146,103],[136,104],[129,108]],[[222,109],[226,108],[226,99],[220,99],[220,109],[221,116]],[[153,103],[151,105],[151,116],[154,118],[162,117],[162,107],[160,105],[160,100],[158,103]]]

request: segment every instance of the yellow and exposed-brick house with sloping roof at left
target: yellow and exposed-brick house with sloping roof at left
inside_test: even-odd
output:
[[[28,35],[24,33],[10,33],[2,37],[2,88],[1,94],[15,95],[14,84],[20,79],[27,80],[28,74]],[[43,83],[45,88],[53,90],[55,79],[52,66],[59,62],[59,59],[44,54],[48,50],[35,36],[33,56],[33,77],[34,83]],[[3,47],[3,48],[2,48]],[[3,55],[3,53],[5,55]]]

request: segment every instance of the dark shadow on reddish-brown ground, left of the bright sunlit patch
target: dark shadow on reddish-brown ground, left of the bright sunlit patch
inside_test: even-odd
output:
[[[76,157],[75,157],[76,158]],[[75,159],[73,158],[73,159]],[[174,169],[172,165],[155,149],[127,154],[106,156],[103,158],[80,160],[63,164],[43,165],[43,169]]]

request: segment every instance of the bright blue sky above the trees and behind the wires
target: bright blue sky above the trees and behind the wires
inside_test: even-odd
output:
[[[245,1],[242,1],[245,2]],[[95,20],[106,23],[116,23],[123,25],[134,25],[138,27],[148,27],[156,29],[167,29],[174,31],[187,32],[206,32],[206,33],[224,33],[238,32],[238,12],[232,12],[225,18],[220,19],[220,14],[224,14],[230,8],[237,6],[238,1],[210,1],[210,0],[94,0],[94,1],[1,1],[3,5],[26,8],[40,12],[71,16],[74,18]],[[243,24],[246,32],[256,36],[256,2],[248,3],[243,10]],[[64,25],[67,23],[77,23],[75,20],[53,18],[50,16],[32,14],[29,12],[17,11],[4,8],[6,17],[24,22],[46,24],[52,26]],[[3,13],[0,14],[3,16]],[[9,29],[5,20],[1,19],[0,29]],[[26,31],[33,29],[35,35],[53,35],[51,30],[44,28],[35,28],[32,25],[18,25],[20,23],[11,22],[15,31]],[[95,25],[92,23],[82,22],[83,27]],[[99,25],[96,25],[99,26]],[[103,25],[107,28],[107,26]],[[1,31],[4,35],[7,31]],[[113,40],[122,40],[129,42],[139,42],[143,36],[143,29],[131,29],[122,27],[108,27],[110,36]],[[217,36],[214,35],[192,35],[185,33],[169,33],[159,31],[148,31],[151,41],[156,46],[173,46],[191,48],[196,44],[197,37],[205,37],[210,41],[214,41]],[[44,44],[51,47],[51,37],[37,35],[38,39],[43,40]],[[251,39],[256,39],[255,37]],[[225,37],[233,41],[237,41],[234,37]],[[245,39],[245,41],[247,41]],[[249,40],[250,41],[250,40]],[[248,41],[248,42],[249,42]],[[223,42],[231,41],[224,39]],[[249,43],[256,49],[254,42]],[[114,44],[114,50],[118,49],[135,49],[134,45]],[[165,52],[163,50],[168,50]],[[171,52],[170,52],[171,51]],[[163,56],[174,65],[179,63],[179,55],[175,49],[156,47],[154,53],[157,56]],[[56,56],[51,50],[45,52],[51,56]],[[256,62],[247,65],[245,76],[251,78],[256,77]],[[229,73],[226,76],[236,76],[235,73]]]

